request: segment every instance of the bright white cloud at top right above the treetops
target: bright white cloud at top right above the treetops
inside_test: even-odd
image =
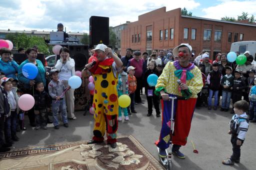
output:
[[[237,18],[242,12],[247,12],[248,16],[256,15],[256,0],[219,0],[220,3],[202,9],[206,14],[202,17],[220,19],[224,16]]]

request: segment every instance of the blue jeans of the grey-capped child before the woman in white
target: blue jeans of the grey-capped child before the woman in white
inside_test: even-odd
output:
[[[63,123],[67,123],[67,115],[66,115],[66,102],[64,99],[57,100],[52,100],[52,117],[53,117],[53,125],[56,126],[58,125],[58,111],[60,111],[62,121]]]

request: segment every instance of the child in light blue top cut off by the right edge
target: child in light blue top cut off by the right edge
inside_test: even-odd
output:
[[[254,79],[254,84],[256,83],[256,78]],[[250,122],[256,122],[256,85],[250,88],[249,92],[249,120]]]

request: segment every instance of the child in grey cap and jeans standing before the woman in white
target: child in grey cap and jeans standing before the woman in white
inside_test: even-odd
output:
[[[64,84],[58,79],[59,71],[57,69],[50,70],[51,81],[48,84],[49,95],[52,99],[52,113],[53,113],[53,125],[55,129],[59,129],[58,126],[58,111],[60,111],[63,125],[68,127],[67,115],[66,115],[66,103],[63,92],[65,91]]]

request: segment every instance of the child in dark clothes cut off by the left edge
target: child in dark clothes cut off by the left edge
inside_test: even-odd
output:
[[[4,77],[4,73],[0,72],[0,84],[1,84],[1,78]],[[10,146],[12,146],[11,143],[5,143],[4,137],[3,137],[3,131],[4,131],[4,119],[7,116],[7,113],[9,113],[9,103],[7,96],[5,95],[6,92],[3,90],[2,86],[0,85],[0,153],[9,151]]]

